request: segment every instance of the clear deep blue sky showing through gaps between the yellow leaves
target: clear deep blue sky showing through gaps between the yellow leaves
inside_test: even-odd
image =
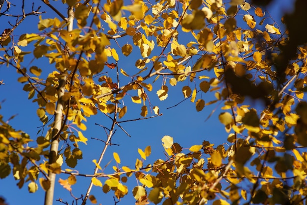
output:
[[[16,8],[12,8],[12,11],[19,8],[20,0],[12,0],[11,2],[13,4],[16,2]],[[276,21],[279,21],[282,13],[291,9],[291,2],[293,2],[293,0],[283,0],[282,2],[280,0],[275,0],[267,10],[270,11],[271,16]],[[53,3],[53,1],[51,3]],[[27,5],[28,10],[30,10],[30,6],[31,5]],[[43,18],[50,18],[55,16],[54,12],[48,9],[46,6],[43,6],[41,10],[47,11],[46,14],[42,15]],[[3,12],[3,8],[1,11]],[[1,18],[4,19],[4,16],[1,16]],[[8,19],[6,18],[5,21],[8,21]],[[279,23],[279,25],[281,26],[281,23]],[[3,25],[1,23],[0,30],[2,31],[5,29],[5,26],[7,25]],[[27,17],[25,22],[18,26],[17,30],[15,31],[15,35],[18,35],[21,32],[37,32],[37,18],[31,16]],[[16,40],[17,39],[18,37],[16,36]],[[127,41],[127,38],[119,40],[120,43]],[[112,44],[113,43],[114,42],[112,42]],[[137,50],[137,48],[133,49]],[[160,51],[160,48],[157,48],[157,50]],[[118,50],[118,53],[119,52],[120,50]],[[42,77],[44,77],[44,75],[46,76],[54,69],[54,65],[49,65],[46,60],[34,60],[33,62],[31,60],[32,59],[26,59],[23,63],[23,66],[27,68],[32,65],[39,66],[43,69]],[[127,57],[125,61],[120,59],[119,67],[127,69],[129,67],[133,68],[135,60],[135,55]],[[39,136],[36,135],[36,133],[40,129],[39,127],[42,125],[36,115],[36,109],[38,107],[36,103],[32,103],[31,100],[27,100],[27,93],[23,91],[24,84],[17,82],[18,77],[20,77],[20,75],[16,73],[14,68],[7,68],[5,65],[0,66],[0,80],[3,79],[3,82],[5,83],[5,85],[0,85],[0,101],[5,100],[1,103],[0,114],[3,115],[4,120],[9,119],[12,115],[17,115],[10,121],[12,127],[24,130],[31,136],[32,139],[35,139],[37,136]],[[152,81],[153,79],[147,82],[152,83]],[[173,106],[183,100],[181,88],[182,86],[187,85],[187,83],[188,82],[180,82],[176,87],[171,87],[168,84],[169,96],[165,101],[160,102],[155,93],[156,90],[160,89],[162,83],[161,80],[155,82],[153,84],[153,91],[150,93],[149,97],[153,106],[159,106],[160,113],[163,113],[163,116],[121,124],[123,128],[125,128],[125,130],[131,135],[131,137],[129,138],[120,128],[117,128],[112,143],[120,144],[120,146],[111,146],[108,148],[101,166],[104,167],[105,164],[113,159],[113,152],[116,152],[121,158],[121,166],[134,167],[136,158],[140,159],[140,156],[137,152],[138,148],[144,150],[148,145],[152,147],[152,155],[148,157],[144,164],[153,163],[154,160],[158,158],[165,159],[163,154],[164,149],[161,145],[161,138],[164,135],[172,136],[175,142],[178,142],[182,147],[185,148],[189,148],[190,146],[196,144],[202,144],[204,140],[207,140],[215,145],[225,143],[228,133],[225,132],[224,126],[218,120],[218,114],[221,112],[220,107],[223,105],[223,103],[208,105],[204,108],[203,111],[197,112],[195,109],[195,104],[191,103],[190,100],[186,100],[174,108],[166,109],[167,107]],[[205,99],[205,102],[209,102],[214,97],[213,94],[203,93],[202,98]],[[124,103],[128,106],[128,112],[122,120],[136,119],[141,117],[140,104],[131,103],[129,98],[127,98]],[[216,109],[216,112],[207,121],[205,121],[213,109]],[[101,153],[103,143],[91,139],[91,137],[105,139],[106,136],[104,130],[99,126],[95,126],[95,123],[109,127],[111,125],[111,120],[109,120],[103,114],[98,114],[97,116],[93,116],[88,119],[88,122],[86,123],[87,130],[84,132],[84,136],[86,136],[89,141],[87,145],[80,145],[80,149],[83,150],[83,160],[79,161],[79,164],[75,168],[79,170],[79,173],[93,174],[95,167],[92,163],[92,160],[98,159]],[[43,135],[46,134],[46,131],[47,128],[45,129],[45,133],[43,133]],[[227,147],[227,145],[225,146]],[[114,160],[105,169],[104,173],[112,173],[113,165],[116,165]],[[57,176],[57,179],[67,179],[67,177],[68,175],[61,175]],[[80,194],[85,194],[89,182],[89,178],[78,177],[77,184],[72,186],[73,194],[76,197],[79,197]],[[36,193],[29,194],[27,191],[27,183],[22,189],[18,189],[16,183],[17,181],[15,181],[11,175],[6,179],[0,180],[0,196],[4,197],[7,203],[10,205],[25,204],[25,202],[28,202],[26,204],[43,203],[44,191],[41,187],[39,187]],[[129,193],[128,196],[124,197],[121,204],[133,204],[135,201],[131,194],[132,188],[138,185],[135,178],[129,178],[127,185],[129,188]],[[102,193],[100,187],[94,187],[92,194],[95,195],[99,203],[114,204],[112,203],[112,191],[111,194],[105,195]],[[56,186],[54,195],[54,199],[58,198],[61,198],[69,203],[72,201],[69,192],[59,185]],[[61,203],[55,202],[54,204]],[[90,204],[90,202],[88,202],[88,204]]]

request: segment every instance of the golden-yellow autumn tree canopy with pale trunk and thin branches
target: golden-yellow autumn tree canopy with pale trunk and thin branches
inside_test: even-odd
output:
[[[307,1],[296,0],[281,20],[269,2],[0,0],[0,69],[16,70],[23,87],[11,90],[3,75],[0,89],[26,92],[20,101],[32,104],[31,115],[18,117],[41,125],[13,126],[22,103],[6,111],[9,119],[0,115],[0,179],[43,189],[45,205],[102,204],[107,193],[114,204],[127,195],[136,205],[305,204]],[[174,118],[185,118],[177,105],[186,101],[210,109],[203,123],[215,117],[223,143],[203,133],[187,147],[165,133],[157,136],[162,157],[140,146],[126,164],[112,148],[128,147],[114,139],[131,137],[126,122],[164,118],[160,107],[170,98]],[[103,120],[89,131],[95,116]],[[99,154],[83,159],[94,140]]]

